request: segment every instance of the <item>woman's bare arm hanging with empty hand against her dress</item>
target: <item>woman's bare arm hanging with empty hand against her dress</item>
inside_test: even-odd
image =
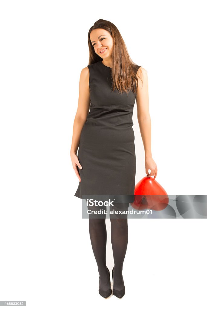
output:
[[[81,181],[80,175],[77,170],[77,166],[81,169],[81,165],[77,157],[77,149],[80,143],[80,136],[82,128],[86,122],[86,118],[89,112],[90,106],[90,88],[89,88],[89,69],[85,67],[81,71],[80,82],[79,82],[79,97],[78,97],[78,107],[73,123],[73,137],[70,149],[70,157],[73,164],[73,169]]]

